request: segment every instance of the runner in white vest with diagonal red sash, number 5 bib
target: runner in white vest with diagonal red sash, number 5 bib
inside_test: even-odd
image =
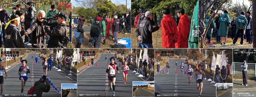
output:
[[[118,67],[117,65],[114,64],[115,62],[115,58],[111,57],[110,58],[110,64],[108,65],[107,69],[106,69],[106,73],[109,73],[109,87],[111,89],[111,91],[113,91],[113,95],[115,96],[115,81],[116,81],[116,70],[119,73]],[[112,87],[112,83],[113,83],[113,87]]]

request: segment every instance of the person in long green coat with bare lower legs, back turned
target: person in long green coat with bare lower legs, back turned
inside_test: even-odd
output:
[[[230,25],[230,18],[228,17],[228,11],[224,10],[224,14],[219,17],[219,33],[218,35],[220,36],[220,40],[221,40],[221,45],[222,44],[222,40],[224,38],[225,42],[224,45],[226,45],[226,40],[227,40],[227,36],[228,36],[228,26]]]

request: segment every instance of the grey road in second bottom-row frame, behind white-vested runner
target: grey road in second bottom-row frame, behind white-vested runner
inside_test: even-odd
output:
[[[97,97],[112,96],[113,92],[110,91],[108,85],[108,75],[106,74],[106,63],[110,64],[110,57],[114,54],[107,54],[107,60],[105,60],[105,54],[101,53],[99,60],[95,61],[94,66],[86,68],[77,75],[77,90],[78,97],[83,97],[88,94],[97,95]],[[96,66],[98,62],[98,67]],[[115,82],[115,96],[117,97],[132,97],[132,81],[143,81],[140,77],[128,71],[127,82],[124,84],[123,73],[121,72],[121,66],[119,66],[118,60],[116,60],[120,73],[116,72]]]

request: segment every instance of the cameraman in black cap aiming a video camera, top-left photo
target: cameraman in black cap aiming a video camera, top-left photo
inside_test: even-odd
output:
[[[47,48],[61,48],[67,34],[67,15],[60,13],[57,14],[56,17],[58,17],[58,25],[54,29],[51,29],[49,24],[47,22],[44,22],[44,30],[50,37]]]

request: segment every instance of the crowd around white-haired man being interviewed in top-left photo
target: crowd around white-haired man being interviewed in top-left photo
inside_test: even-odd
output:
[[[51,5],[47,15],[43,10],[37,13],[32,2],[27,2],[26,8],[25,13],[21,5],[17,4],[10,15],[0,4],[0,43],[4,42],[5,48],[25,48],[25,45],[33,48],[46,48],[46,45],[47,48],[66,48],[67,15],[59,13],[55,5]],[[45,18],[55,19],[50,21]]]

